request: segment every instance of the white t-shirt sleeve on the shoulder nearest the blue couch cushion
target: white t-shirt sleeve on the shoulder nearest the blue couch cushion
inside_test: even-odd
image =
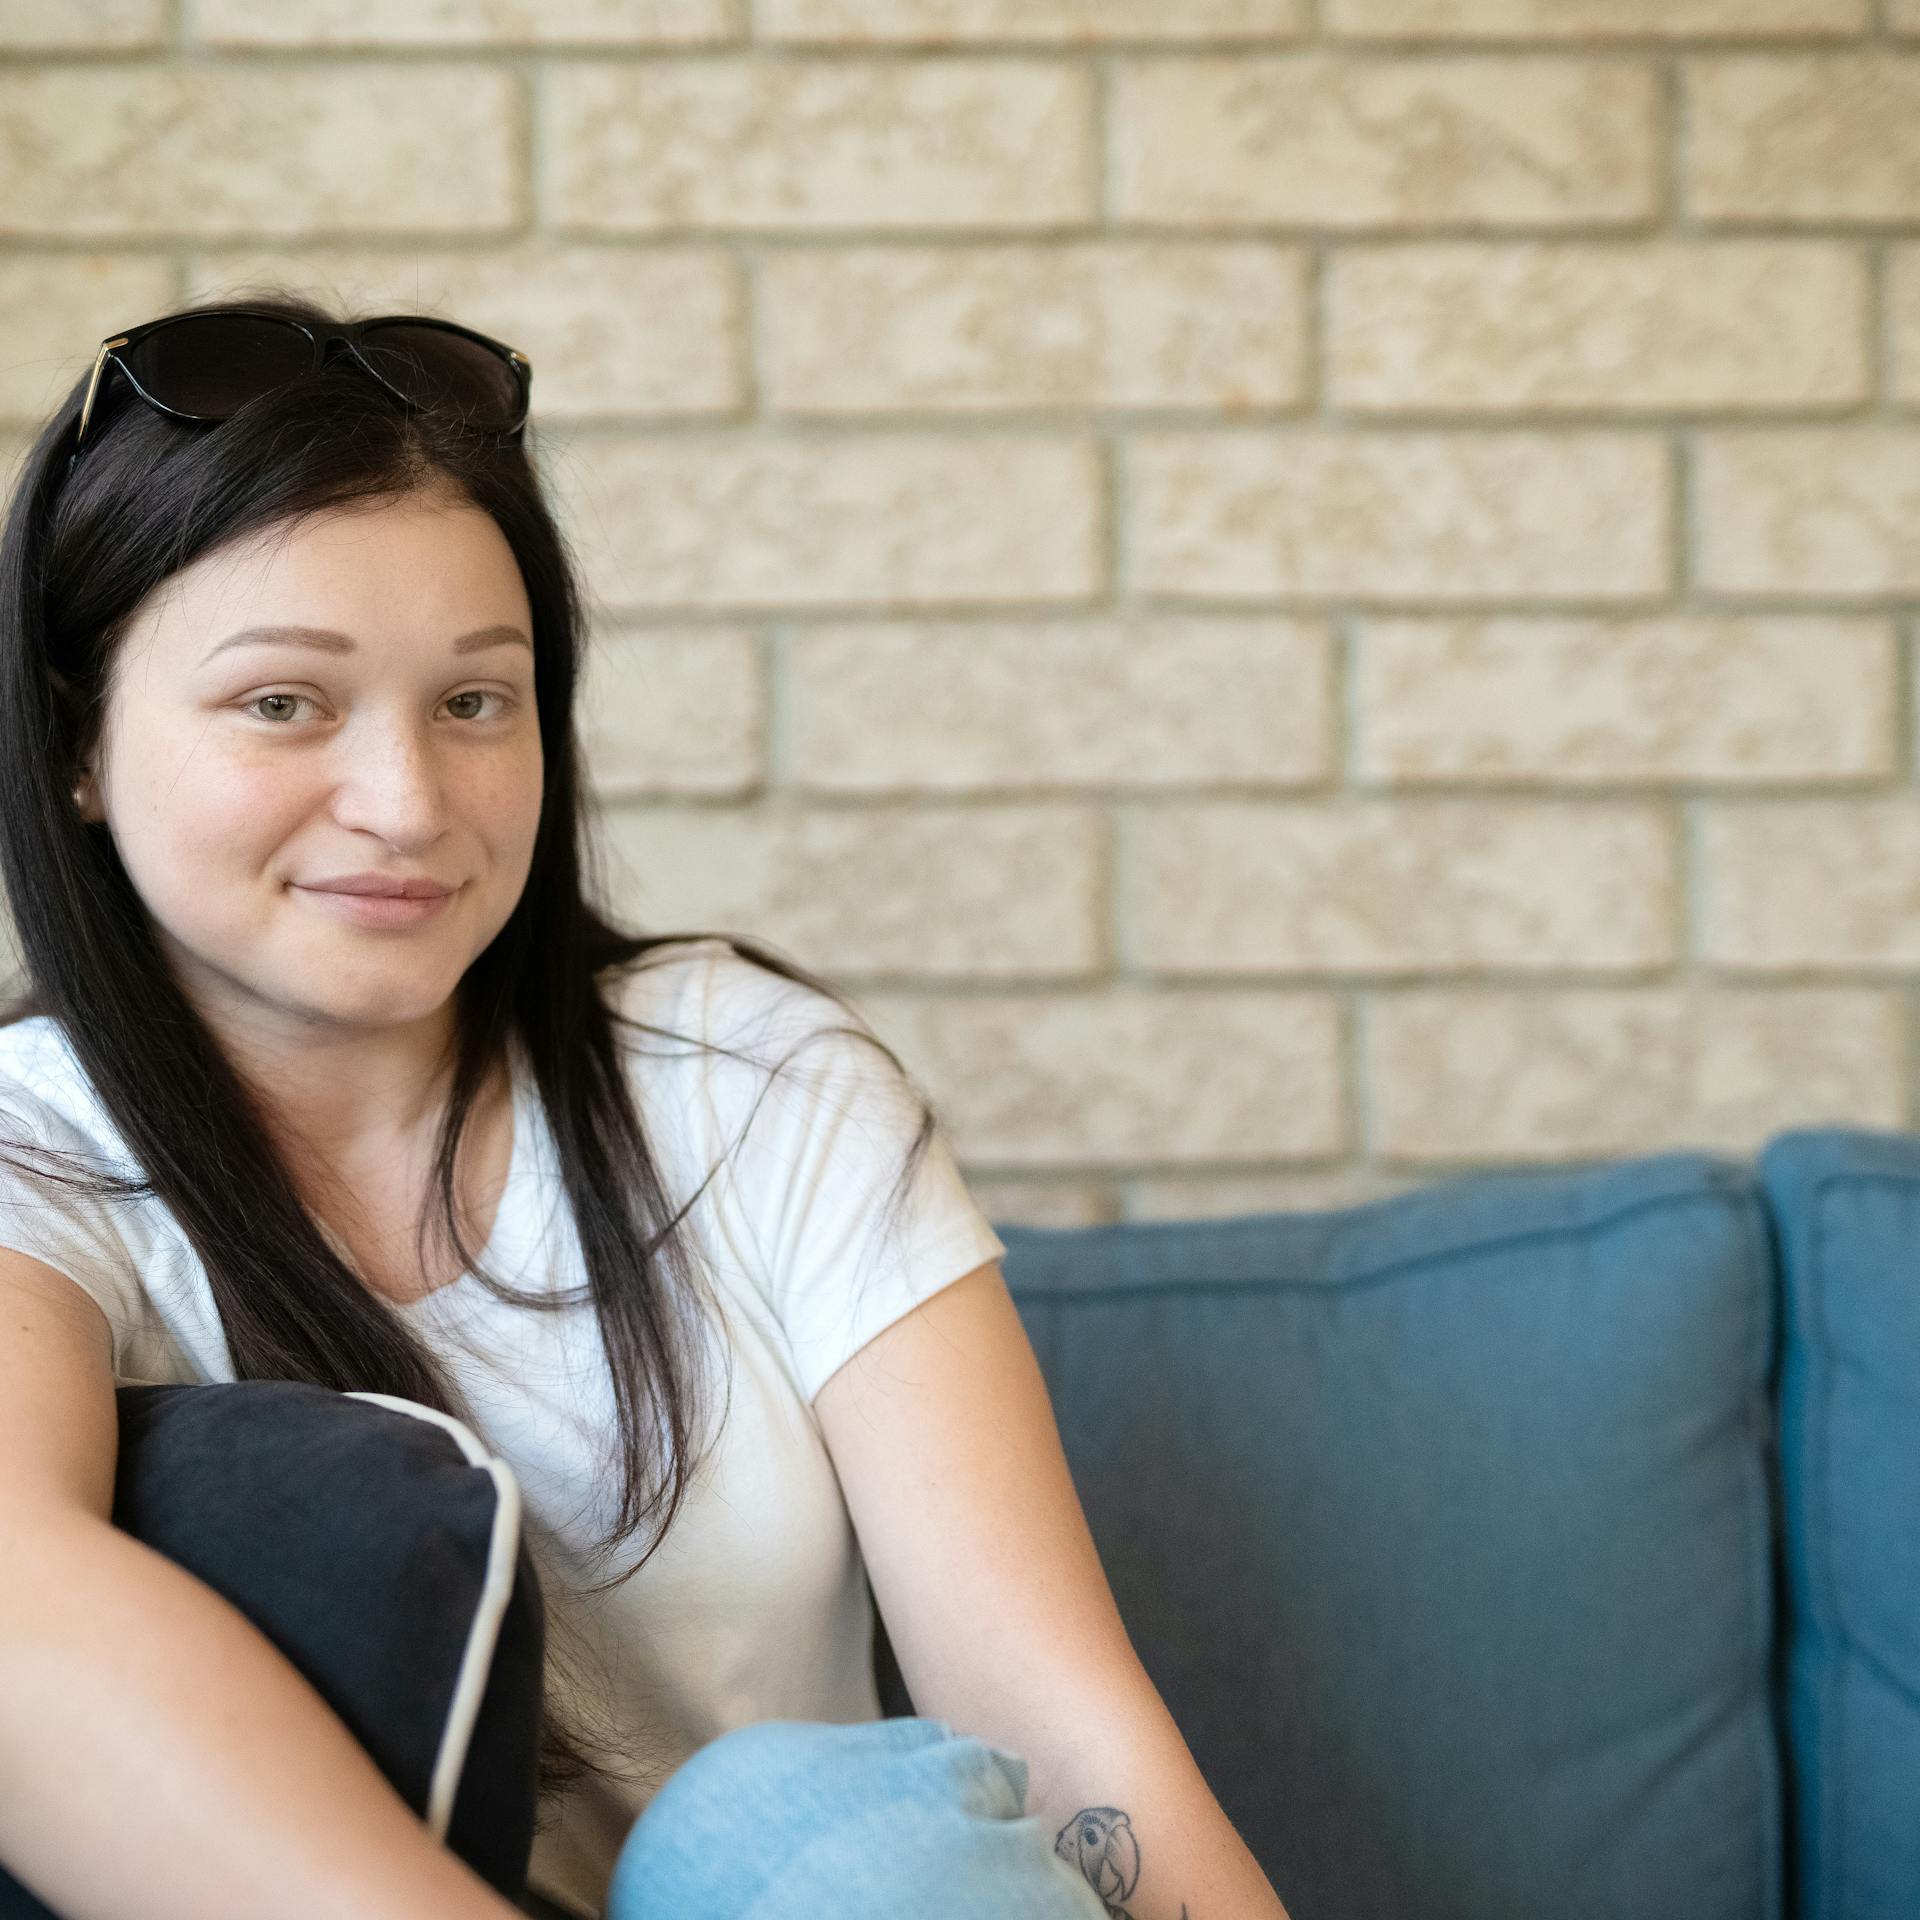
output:
[[[716,1185],[812,1404],[868,1340],[1006,1242],[939,1131],[897,1194],[920,1100],[866,1020],[724,947],[705,996],[703,1035],[751,1060],[708,1056]]]

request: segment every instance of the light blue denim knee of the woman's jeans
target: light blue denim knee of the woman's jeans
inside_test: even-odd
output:
[[[945,1720],[760,1720],[628,1832],[603,1920],[1108,1920],[1027,1763]]]

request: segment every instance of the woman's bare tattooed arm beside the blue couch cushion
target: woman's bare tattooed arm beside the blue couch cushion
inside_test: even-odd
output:
[[[1027,1761],[1027,1812],[1110,1914],[1286,1920],[1127,1640],[998,1261],[814,1413],[914,1707]]]

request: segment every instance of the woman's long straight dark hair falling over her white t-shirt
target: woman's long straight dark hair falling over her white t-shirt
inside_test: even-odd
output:
[[[340,323],[282,290],[177,311],[240,307],[265,307],[317,330]],[[534,1311],[580,1304],[578,1292],[540,1294],[484,1273],[459,1231],[459,1140],[518,1037],[559,1150],[618,1413],[622,1496],[601,1553],[655,1524],[653,1542],[624,1574],[582,1588],[603,1592],[653,1557],[680,1511],[705,1413],[693,1342],[701,1308],[685,1306],[703,1277],[695,1240],[680,1229],[699,1192],[668,1217],[616,1029],[745,1058],[701,1035],[628,1020],[618,981],[670,958],[649,960],[653,948],[720,939],[852,1014],[851,1023],[826,1031],[876,1046],[920,1108],[883,1210],[887,1233],[941,1121],[856,1004],[791,956],[732,931],[624,931],[597,904],[607,899],[605,856],[574,739],[586,599],[520,438],[480,436],[455,419],[405,409],[346,361],[328,361],[217,424],[167,419],[113,378],[102,386],[86,453],[67,478],[83,384],[75,382],[29,449],[0,536],[0,870],[29,989],[0,1006],[0,1025],[42,1014],[61,1025],[144,1179],[92,1167],[77,1177],[71,1156],[52,1156],[56,1165],[10,1164],[65,1187],[161,1200],[205,1263],[236,1379],[386,1392],[472,1421],[436,1356],[323,1238],[252,1091],[165,962],[113,837],[81,818],[71,789],[96,747],[129,616],[198,555],[307,515],[422,488],[490,515],[532,605],[545,783],[526,889],[455,995],[457,1052],[420,1236],[424,1244],[430,1225],[444,1233],[461,1256],[459,1271],[472,1271],[497,1298]],[[33,1142],[23,1144],[31,1154]],[[707,1179],[716,1171],[718,1164]],[[547,1613],[549,1651],[566,1659],[553,1640],[555,1611]],[[603,1772],[618,1745],[618,1736],[593,1740],[568,1724],[549,1690],[541,1801]]]

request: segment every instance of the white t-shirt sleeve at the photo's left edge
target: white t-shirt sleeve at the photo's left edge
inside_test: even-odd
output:
[[[86,1190],[104,1165],[81,1127],[31,1089],[0,1081],[0,1246],[44,1260],[92,1298],[113,1331],[119,1379],[144,1304],[119,1227],[132,1202]],[[67,1185],[75,1177],[81,1185]]]

